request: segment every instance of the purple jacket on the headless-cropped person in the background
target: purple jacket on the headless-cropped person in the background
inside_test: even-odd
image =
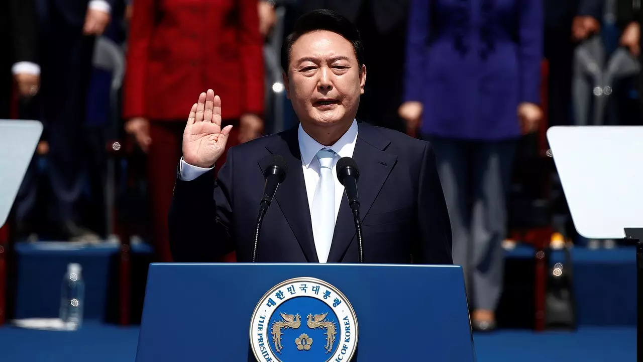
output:
[[[539,103],[541,0],[413,0],[404,100],[424,104],[422,133],[518,137],[516,108]]]

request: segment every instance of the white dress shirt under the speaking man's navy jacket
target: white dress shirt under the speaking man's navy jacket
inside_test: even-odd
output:
[[[306,133],[302,125],[299,125],[298,129],[298,138],[299,138],[299,151],[302,156],[302,169],[303,169],[303,180],[306,185],[306,196],[308,198],[308,207],[312,209],[312,200],[315,196],[315,188],[320,179],[320,165],[318,162],[312,162],[314,160],[317,151],[322,148],[332,149],[337,155],[334,160],[332,160],[332,173],[333,175],[337,174],[337,161],[342,157],[353,157],[353,151],[355,150],[355,143],[358,139],[358,122],[353,120],[353,123],[350,125],[350,128],[344,135],[332,146],[323,146],[316,140],[314,140],[308,133]],[[185,162],[181,158],[181,164],[179,166],[179,175],[183,181],[191,181],[197,178],[198,176],[203,175],[212,168],[203,168],[192,166]],[[337,214],[340,211],[341,198],[344,196],[344,186],[340,183],[338,178],[334,178],[335,181],[335,221],[337,222]],[[312,212],[311,212],[312,214]],[[314,220],[312,220],[314,222]],[[313,238],[315,238],[313,233]]]

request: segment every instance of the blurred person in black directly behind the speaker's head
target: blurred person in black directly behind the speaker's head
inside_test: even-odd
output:
[[[356,24],[364,43],[368,82],[358,119],[404,131],[397,109],[402,103],[408,0],[300,0],[292,19],[320,8]]]

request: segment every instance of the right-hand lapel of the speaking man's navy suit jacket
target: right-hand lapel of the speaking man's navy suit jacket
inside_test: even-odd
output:
[[[397,156],[384,150],[390,144],[374,126],[359,122],[358,139],[353,158],[359,167],[359,216],[363,221],[375,202],[386,178],[397,162]],[[355,223],[346,197],[341,199],[340,211],[332,236],[328,261],[340,262],[355,237]],[[368,243],[368,240],[364,240]],[[366,246],[365,246],[366,247]]]

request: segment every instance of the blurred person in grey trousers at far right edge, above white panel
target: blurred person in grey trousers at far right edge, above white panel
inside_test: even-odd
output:
[[[632,115],[639,112],[632,112],[629,105],[638,103],[632,91],[639,88],[639,11],[639,0],[579,0],[572,25],[579,43],[572,88],[575,124],[640,124],[640,114]],[[596,87],[605,93],[596,94]]]

